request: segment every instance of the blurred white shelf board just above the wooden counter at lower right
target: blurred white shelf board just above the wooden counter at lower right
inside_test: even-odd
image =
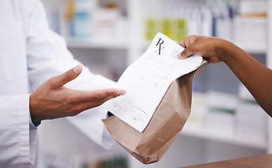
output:
[[[200,127],[192,127],[192,125],[184,125],[183,130],[181,130],[181,135],[245,146],[248,148],[256,148],[259,150],[266,150],[268,148],[268,144],[261,140],[237,137],[235,134],[230,135],[216,130],[205,130]]]

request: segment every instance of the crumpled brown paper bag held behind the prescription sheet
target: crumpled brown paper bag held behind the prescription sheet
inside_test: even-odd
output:
[[[171,83],[143,132],[116,116],[103,120],[113,139],[143,164],[158,162],[179,136],[190,115],[193,78],[206,64],[203,61],[195,71]]]

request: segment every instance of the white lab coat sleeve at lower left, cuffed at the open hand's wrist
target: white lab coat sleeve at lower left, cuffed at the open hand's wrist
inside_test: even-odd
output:
[[[34,164],[37,130],[30,131],[29,99],[0,96],[0,165]]]

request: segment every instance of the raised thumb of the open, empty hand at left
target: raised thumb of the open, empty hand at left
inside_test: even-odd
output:
[[[80,73],[82,73],[82,66],[77,65],[73,69],[65,71],[65,73],[63,74],[54,76],[52,80],[54,81],[56,87],[61,87],[66,83],[70,82],[71,80],[77,78],[77,76],[79,76]]]

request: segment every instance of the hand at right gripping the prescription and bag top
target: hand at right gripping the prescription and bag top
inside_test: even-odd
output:
[[[185,49],[178,57],[185,59],[190,55],[200,55],[209,63],[221,62],[221,50],[225,43],[230,42],[216,37],[191,35],[179,42]]]

